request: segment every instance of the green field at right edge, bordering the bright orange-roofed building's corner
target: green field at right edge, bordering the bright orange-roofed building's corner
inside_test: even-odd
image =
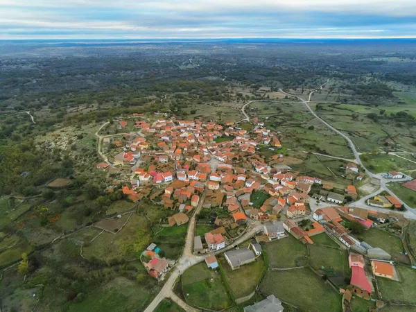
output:
[[[416,304],[416,270],[405,266],[396,268],[399,270],[401,281],[377,277],[383,301]]]

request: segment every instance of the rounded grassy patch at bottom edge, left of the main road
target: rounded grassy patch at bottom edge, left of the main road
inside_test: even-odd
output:
[[[71,304],[69,312],[144,310],[152,295],[137,281],[119,277],[97,288],[83,302]]]

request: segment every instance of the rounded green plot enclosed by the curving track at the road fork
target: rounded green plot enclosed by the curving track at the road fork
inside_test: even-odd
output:
[[[220,310],[232,305],[220,273],[207,268],[205,262],[184,272],[182,291],[187,302],[201,308]]]

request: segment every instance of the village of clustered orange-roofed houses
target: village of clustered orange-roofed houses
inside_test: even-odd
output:
[[[207,268],[218,269],[216,254],[224,250],[229,268],[238,270],[257,260],[261,244],[293,236],[313,245],[314,236],[326,234],[339,248],[349,250],[352,276],[349,286],[340,288],[345,311],[352,295],[372,298],[375,276],[397,280],[392,255],[354,234],[375,225],[406,222],[404,208],[395,196],[384,194],[363,198],[365,208],[349,207],[349,202],[360,199],[354,183],[365,175],[357,164],[345,164],[345,175],[352,182],[346,189],[337,189],[282,164],[281,133],[266,129],[257,118],[241,124],[183,121],[158,113],[150,116],[152,121],[144,114],[130,118],[137,132],[123,140],[104,139],[105,162],[96,168],[109,172],[130,168],[130,180],[121,182],[123,194],[132,202],[151,200],[171,211],[162,227],[189,223],[195,214],[196,224],[188,238],[192,237],[193,257],[205,260]],[[119,129],[127,125],[123,120],[116,122]],[[260,148],[273,155],[263,157],[257,153]],[[406,175],[389,172],[383,177],[400,180]],[[205,225],[212,229],[204,232],[209,229]],[[244,248],[236,244],[250,230],[254,233],[250,243]],[[159,253],[151,243],[141,261],[150,276],[162,281],[176,262]],[[270,311],[283,311],[279,302],[268,297],[263,304],[274,306]]]

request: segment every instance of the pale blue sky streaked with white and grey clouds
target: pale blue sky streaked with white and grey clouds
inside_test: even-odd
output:
[[[0,0],[0,40],[416,37],[416,0]]]

